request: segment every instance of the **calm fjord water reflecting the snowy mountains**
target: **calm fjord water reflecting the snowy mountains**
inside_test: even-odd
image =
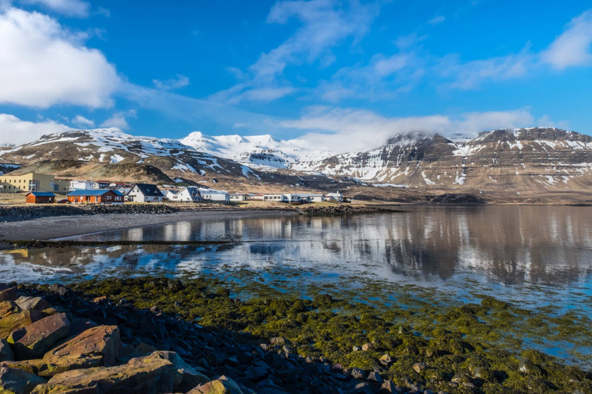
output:
[[[237,270],[289,281],[386,279],[470,298],[592,298],[592,209],[565,206],[404,207],[405,213],[291,216],[161,224],[78,236],[81,240],[236,240],[211,246],[111,246],[0,253],[0,281]],[[234,271],[233,271],[234,270]],[[355,284],[355,281],[352,283]]]

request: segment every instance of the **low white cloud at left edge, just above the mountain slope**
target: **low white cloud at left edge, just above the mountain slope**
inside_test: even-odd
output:
[[[25,144],[49,133],[61,133],[71,127],[54,121],[22,121],[14,115],[0,113],[0,141],[3,144]]]

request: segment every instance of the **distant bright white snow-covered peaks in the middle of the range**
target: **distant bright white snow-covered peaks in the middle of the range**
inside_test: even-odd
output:
[[[194,131],[180,139],[201,152],[237,161],[253,168],[289,168],[308,152],[298,141],[283,141],[271,135],[209,136]]]

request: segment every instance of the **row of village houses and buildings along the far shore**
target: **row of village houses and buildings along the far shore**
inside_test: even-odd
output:
[[[241,201],[271,201],[276,203],[303,204],[344,200],[341,193],[228,193],[200,186],[178,187],[147,183],[121,183],[106,180],[56,180],[54,175],[30,172],[24,175],[0,172],[0,203],[7,194],[22,196],[27,204],[124,204],[124,203],[220,203]],[[14,198],[12,199],[14,201]]]

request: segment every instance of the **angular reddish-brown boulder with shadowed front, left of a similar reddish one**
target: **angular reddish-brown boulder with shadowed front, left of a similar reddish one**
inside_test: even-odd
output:
[[[12,350],[18,360],[39,359],[57,341],[67,335],[69,324],[65,313],[44,317],[26,327],[12,331],[8,337],[8,343],[12,344]]]

